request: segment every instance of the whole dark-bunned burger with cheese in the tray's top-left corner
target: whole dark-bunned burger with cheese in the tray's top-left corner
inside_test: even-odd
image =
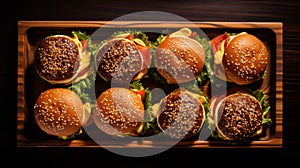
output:
[[[69,85],[91,74],[89,38],[84,36],[79,39],[79,33],[50,35],[39,42],[34,61],[37,74],[42,79],[51,84]]]

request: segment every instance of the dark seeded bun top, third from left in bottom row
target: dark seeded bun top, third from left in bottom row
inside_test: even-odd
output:
[[[190,138],[198,134],[205,121],[205,110],[199,95],[175,90],[159,104],[158,126],[171,138]]]

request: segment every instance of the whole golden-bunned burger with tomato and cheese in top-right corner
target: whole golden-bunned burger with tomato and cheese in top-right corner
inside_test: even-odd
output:
[[[269,63],[266,45],[252,34],[224,33],[211,40],[215,76],[247,85],[264,76]]]

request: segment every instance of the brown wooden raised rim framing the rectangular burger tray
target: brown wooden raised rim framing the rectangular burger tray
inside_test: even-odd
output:
[[[17,121],[18,130],[23,129],[24,124],[24,110],[26,109],[26,104],[24,103],[24,74],[26,64],[24,64],[24,59],[26,57],[25,53],[25,43],[26,39],[24,35],[29,28],[32,27],[58,27],[58,28],[97,28],[97,27],[129,27],[136,28],[161,28],[161,27],[173,27],[180,28],[183,26],[196,26],[198,28],[269,28],[273,30],[276,34],[276,133],[275,136],[268,141],[253,141],[251,146],[254,148],[261,147],[282,147],[282,99],[283,99],[283,82],[282,82],[282,56],[283,56],[283,23],[282,22],[178,22],[178,21],[18,21],[18,111],[17,111]],[[23,102],[23,104],[22,104]],[[19,131],[17,135],[17,146],[18,147],[42,147],[42,146],[61,146],[53,145],[53,141],[45,142],[28,142],[24,136],[22,136]],[[43,145],[44,143],[44,145]],[[65,145],[63,145],[65,146]],[[93,142],[84,142],[82,140],[74,140],[67,146],[69,147],[100,147]],[[129,145],[130,146],[130,145]],[[139,147],[140,145],[133,145],[133,147]],[[150,147],[155,147],[150,145]],[[192,144],[185,145],[185,143],[176,145],[174,147],[214,147],[214,145],[208,145],[206,141],[195,141]],[[228,147],[224,145],[216,145],[215,147]],[[241,146],[236,146],[241,147]]]

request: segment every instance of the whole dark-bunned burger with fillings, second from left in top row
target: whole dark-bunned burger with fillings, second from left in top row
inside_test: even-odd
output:
[[[105,81],[140,80],[150,67],[150,42],[142,32],[116,32],[96,54],[97,73]]]

